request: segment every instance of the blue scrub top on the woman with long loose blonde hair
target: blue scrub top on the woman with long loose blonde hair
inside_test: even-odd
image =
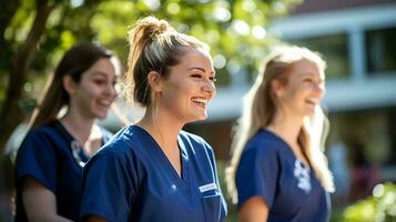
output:
[[[328,193],[315,172],[296,159],[276,134],[258,131],[246,144],[236,171],[237,208],[253,196],[268,205],[268,222],[325,222]]]

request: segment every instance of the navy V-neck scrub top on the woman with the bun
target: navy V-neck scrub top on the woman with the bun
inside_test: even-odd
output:
[[[217,222],[226,214],[212,148],[181,131],[179,176],[154,139],[125,127],[84,167],[81,218],[112,222]]]

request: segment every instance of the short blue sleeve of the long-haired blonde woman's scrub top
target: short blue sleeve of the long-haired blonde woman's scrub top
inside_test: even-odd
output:
[[[278,174],[276,150],[252,140],[242,154],[236,171],[237,208],[253,196],[262,196],[271,208],[276,193]]]

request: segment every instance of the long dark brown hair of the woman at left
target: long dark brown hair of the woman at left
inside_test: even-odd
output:
[[[43,98],[30,121],[30,129],[54,120],[59,111],[69,104],[70,98],[62,83],[64,75],[70,75],[75,83],[79,83],[82,73],[99,59],[111,57],[113,53],[109,49],[87,42],[79,43],[67,51],[47,83]]]

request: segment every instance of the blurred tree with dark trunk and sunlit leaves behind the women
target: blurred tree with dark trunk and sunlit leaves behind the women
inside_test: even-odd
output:
[[[125,61],[126,32],[154,14],[212,48],[219,84],[255,68],[274,41],[265,27],[298,0],[2,0],[0,2],[0,152],[37,104],[60,56],[78,41],[97,41]]]

